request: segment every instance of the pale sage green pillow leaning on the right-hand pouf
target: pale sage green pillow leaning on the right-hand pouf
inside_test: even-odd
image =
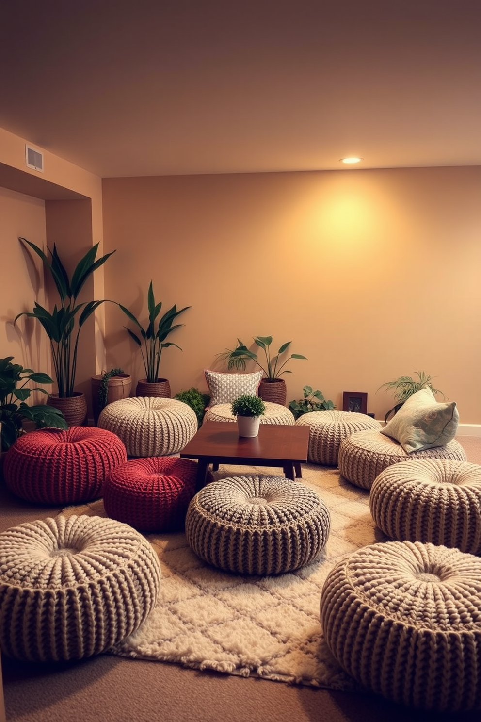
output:
[[[381,434],[399,441],[406,453],[445,446],[456,434],[459,413],[455,401],[438,403],[431,388],[421,388],[402,404]]]

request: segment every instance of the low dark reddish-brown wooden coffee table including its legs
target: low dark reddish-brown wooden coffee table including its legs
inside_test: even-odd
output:
[[[198,488],[206,484],[209,464],[240,466],[282,466],[288,479],[301,477],[301,464],[307,461],[309,426],[261,424],[259,435],[239,436],[237,423],[206,421],[182,449],[182,458],[197,458]]]

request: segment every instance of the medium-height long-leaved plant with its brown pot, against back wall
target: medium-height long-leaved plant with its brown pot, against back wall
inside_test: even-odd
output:
[[[125,313],[125,316],[135,324],[135,326],[141,332],[141,339],[134,334],[131,329],[124,326],[128,331],[129,336],[136,342],[137,346],[141,349],[142,361],[144,362],[144,368],[146,372],[146,378],[139,380],[136,388],[137,396],[165,396],[170,398],[170,385],[166,378],[159,378],[159,365],[162,351],[167,349],[169,346],[175,346],[177,349],[182,349],[180,346],[173,342],[166,342],[167,336],[172,334],[175,329],[180,329],[183,323],[176,323],[172,325],[181,313],[184,313],[187,308],[191,306],[185,306],[177,310],[177,305],[173,305],[163,316],[159,318],[160,311],[162,309],[162,302],[155,303],[154,290],[152,282],[150,282],[149,290],[147,292],[147,309],[149,310],[149,323],[144,329],[141,323],[137,320],[133,313],[119,303],[120,308]],[[157,318],[159,321],[157,323]]]

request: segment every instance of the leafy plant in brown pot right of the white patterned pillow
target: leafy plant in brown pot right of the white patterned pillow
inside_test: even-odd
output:
[[[270,344],[273,342],[272,336],[255,336],[254,342],[264,352],[265,361],[262,363],[258,360],[257,354],[248,349],[240,339],[237,339],[235,349],[227,349],[226,352],[219,354],[219,356],[227,361],[229,370],[232,368],[244,369],[245,362],[252,359],[265,373],[265,378],[262,378],[260,382],[259,396],[264,401],[273,401],[275,404],[284,405],[286,404],[286,382],[281,378],[281,375],[292,373],[285,369],[284,366],[291,359],[306,360],[306,357],[301,354],[291,354],[281,362],[281,357],[287,352],[292,343],[291,341],[282,344],[273,357],[270,356]]]

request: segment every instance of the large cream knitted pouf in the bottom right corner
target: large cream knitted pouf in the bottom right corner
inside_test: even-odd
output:
[[[364,687],[425,710],[481,709],[481,559],[384,541],[327,575],[327,646]]]

